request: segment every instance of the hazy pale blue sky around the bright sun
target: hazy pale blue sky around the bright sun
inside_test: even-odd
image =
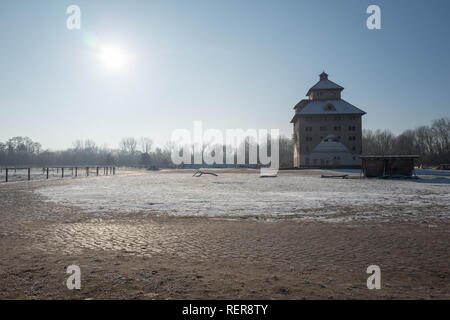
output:
[[[81,30],[66,8],[81,8]],[[382,30],[366,9],[381,7]],[[367,112],[364,128],[450,116],[450,1],[0,2],[0,141],[45,148],[122,137],[162,145],[206,128],[279,128],[325,70]],[[105,67],[99,51],[127,57]]]

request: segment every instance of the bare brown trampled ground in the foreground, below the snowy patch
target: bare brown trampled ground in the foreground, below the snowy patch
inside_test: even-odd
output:
[[[1,299],[450,298],[447,219],[99,217],[37,192],[83,179],[114,177],[0,184]],[[434,205],[439,214],[443,204]],[[66,287],[72,264],[81,290]],[[381,268],[380,290],[366,287],[371,264]]]

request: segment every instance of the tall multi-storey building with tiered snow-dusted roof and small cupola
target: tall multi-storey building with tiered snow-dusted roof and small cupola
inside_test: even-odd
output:
[[[361,165],[362,126],[366,114],[341,99],[343,87],[323,72],[294,107],[295,167],[356,167]]]

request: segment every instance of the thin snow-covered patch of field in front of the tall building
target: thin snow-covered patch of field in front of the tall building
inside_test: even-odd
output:
[[[257,216],[323,220],[445,221],[448,178],[426,180],[321,179],[327,173],[280,172],[192,177],[192,172],[139,172],[79,179],[42,187],[50,201],[79,206],[93,215],[142,211],[182,216]],[[328,172],[329,174],[330,172]],[[357,175],[359,176],[359,175]],[[437,180],[436,180],[437,179]]]

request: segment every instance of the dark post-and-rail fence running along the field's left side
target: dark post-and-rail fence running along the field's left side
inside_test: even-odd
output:
[[[5,172],[5,182],[8,182],[9,174],[14,171],[14,173],[17,173],[17,170],[27,170],[27,178],[28,180],[31,180],[31,169],[40,169],[42,168],[42,174],[45,175],[46,179],[49,178],[49,172],[50,170],[54,172],[56,170],[56,174],[59,175],[61,171],[61,178],[64,178],[64,176],[68,176],[67,172],[70,171],[71,177],[78,177],[79,175],[84,175],[86,177],[89,177],[89,174],[92,173],[92,170],[94,170],[94,175],[99,176],[102,172],[102,175],[115,175],[116,174],[116,167],[111,166],[87,166],[87,167],[0,167],[0,174],[3,174]],[[64,169],[67,169],[67,171],[64,171]],[[66,173],[66,175],[64,175]]]

